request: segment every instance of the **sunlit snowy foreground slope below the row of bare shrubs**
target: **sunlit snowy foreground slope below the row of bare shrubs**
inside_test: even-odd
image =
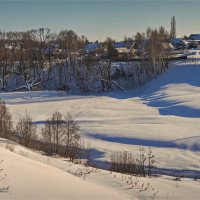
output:
[[[200,182],[161,176],[135,177],[84,167],[0,141],[0,199],[191,199]]]

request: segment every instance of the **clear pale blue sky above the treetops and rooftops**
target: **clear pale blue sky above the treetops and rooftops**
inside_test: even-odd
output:
[[[178,36],[200,33],[200,0],[0,0],[1,30],[67,28],[99,41],[120,40],[148,26],[169,30],[173,15]]]

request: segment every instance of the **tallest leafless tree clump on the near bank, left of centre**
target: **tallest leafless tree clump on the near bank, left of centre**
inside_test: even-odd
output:
[[[47,153],[63,155],[74,161],[80,148],[80,135],[78,122],[70,113],[63,118],[60,112],[54,112],[42,129],[42,136]]]

